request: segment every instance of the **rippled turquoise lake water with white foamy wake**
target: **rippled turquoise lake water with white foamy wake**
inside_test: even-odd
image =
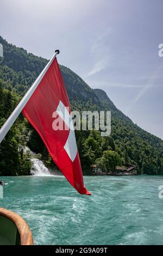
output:
[[[27,221],[36,245],[163,245],[163,176],[85,176],[91,197],[63,176],[1,179],[1,207]]]

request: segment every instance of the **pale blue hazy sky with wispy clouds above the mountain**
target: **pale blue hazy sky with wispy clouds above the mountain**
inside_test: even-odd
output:
[[[137,125],[163,139],[162,0],[1,0],[1,35],[105,90]]]

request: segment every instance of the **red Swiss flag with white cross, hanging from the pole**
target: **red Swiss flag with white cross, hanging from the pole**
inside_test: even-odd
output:
[[[53,161],[70,184],[80,194],[91,195],[83,182],[76,138],[69,125],[71,119],[70,102],[57,58],[49,66],[22,113],[39,133]],[[63,130],[57,130],[53,127],[55,120],[64,124]]]

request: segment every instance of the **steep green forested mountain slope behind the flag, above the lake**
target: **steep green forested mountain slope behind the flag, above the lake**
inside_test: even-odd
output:
[[[1,36],[0,43],[4,47],[4,58],[0,58],[0,124],[2,125],[48,60],[8,44]],[[91,89],[73,71],[62,65],[60,68],[72,109],[111,111],[111,136],[101,137],[98,131],[76,132],[83,170],[89,170],[92,163],[99,162],[104,155],[106,156],[104,152],[107,151],[107,154],[115,153],[117,164],[131,162],[136,164],[142,173],[163,174],[162,140],[135,125],[116,108],[103,90]],[[52,164],[41,139],[22,115],[6,138],[0,146],[2,174],[29,172],[29,156],[21,150],[22,145],[26,144],[36,153],[40,153],[47,164]],[[14,143],[17,143],[15,148],[11,144],[13,139]],[[14,159],[12,159],[13,150],[15,150]],[[14,168],[15,164],[17,168]]]

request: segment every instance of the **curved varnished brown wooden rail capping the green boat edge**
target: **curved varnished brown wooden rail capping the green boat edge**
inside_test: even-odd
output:
[[[15,214],[15,212],[4,208],[0,208],[0,215],[9,218],[9,220],[15,223],[18,232],[20,233],[21,245],[34,245],[32,232],[22,217]]]

